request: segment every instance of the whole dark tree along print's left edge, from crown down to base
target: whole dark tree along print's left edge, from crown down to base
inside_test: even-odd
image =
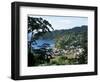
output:
[[[47,32],[54,30],[52,25],[43,18],[28,17],[28,66],[34,65],[35,56],[32,53],[32,45],[36,44],[36,40]],[[33,61],[34,60],[34,61]]]

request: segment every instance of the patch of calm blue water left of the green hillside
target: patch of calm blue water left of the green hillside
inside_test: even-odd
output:
[[[32,45],[32,47],[34,47],[35,49],[39,49],[41,48],[40,46],[42,46],[43,44],[49,44],[50,45],[50,48],[53,48],[54,47],[54,44],[55,44],[55,41],[54,40],[44,40],[44,39],[40,39],[40,40],[36,40],[36,43],[35,45]]]

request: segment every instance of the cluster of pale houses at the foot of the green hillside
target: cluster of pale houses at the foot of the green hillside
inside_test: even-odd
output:
[[[71,58],[78,58],[79,55],[84,51],[83,48],[81,48],[80,46],[78,47],[74,47],[74,46],[70,46],[67,47],[66,49],[58,49],[58,48],[53,48],[53,55],[57,56],[57,55],[66,55],[67,57],[71,57]]]

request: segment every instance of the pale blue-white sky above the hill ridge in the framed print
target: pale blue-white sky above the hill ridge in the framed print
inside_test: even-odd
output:
[[[30,17],[43,18],[47,20],[54,30],[71,29],[76,26],[88,25],[87,17],[76,16],[41,16],[41,15],[29,15]]]

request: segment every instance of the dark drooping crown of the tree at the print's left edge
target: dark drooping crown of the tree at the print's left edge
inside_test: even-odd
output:
[[[28,34],[31,33],[31,39],[28,41],[29,50],[31,45],[36,44],[36,40],[47,32],[54,30],[52,25],[43,18],[28,17]]]

